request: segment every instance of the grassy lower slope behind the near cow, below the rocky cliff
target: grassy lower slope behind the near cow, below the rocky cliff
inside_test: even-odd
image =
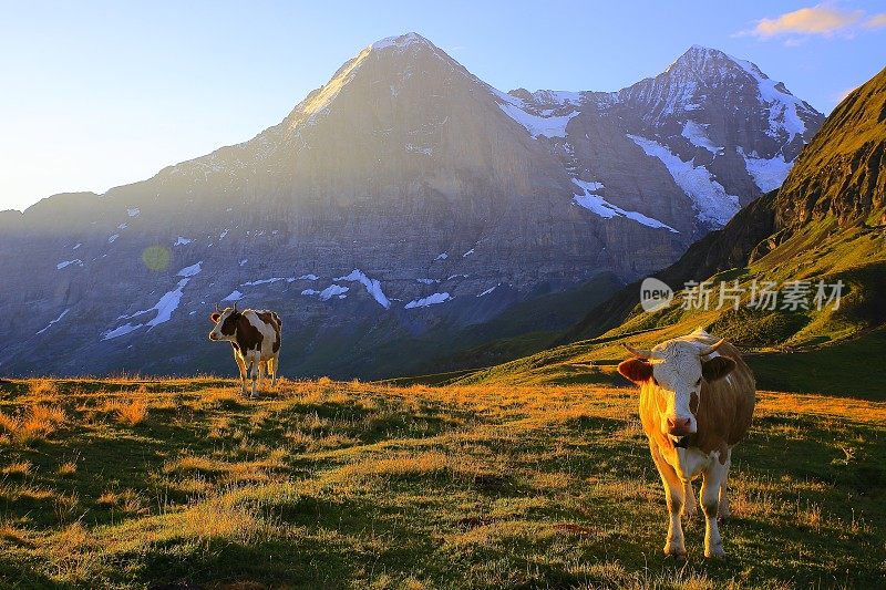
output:
[[[725,337],[743,351],[763,387],[806,393],[855,395],[886,401],[886,248],[883,229],[856,226],[833,231],[833,220],[805,230],[743,268],[719,272],[708,280],[715,287],[705,309],[680,309],[686,292],[670,307],[653,313],[639,306],[618,327],[598,338],[564,344],[468,375],[459,383],[624,383],[615,366],[627,358],[621,343],[651,348],[701,325]],[[843,281],[838,309],[756,310],[750,307],[753,281],[779,286],[803,280]],[[719,284],[733,281],[743,289],[739,310],[718,307]],[[639,288],[638,288],[639,289]],[[781,307],[781,304],[779,304]]]

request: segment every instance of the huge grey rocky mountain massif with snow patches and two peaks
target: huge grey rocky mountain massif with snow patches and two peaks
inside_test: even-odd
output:
[[[615,93],[503,93],[385,39],[248,142],[0,214],[0,372],[218,371],[219,301],[284,317],[290,375],[432,366],[537,298],[672,262],[822,120],[715,50]]]

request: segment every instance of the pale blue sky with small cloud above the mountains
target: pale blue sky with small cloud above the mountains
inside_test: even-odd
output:
[[[825,113],[886,65],[883,2],[9,2],[0,209],[253,137],[374,40],[416,31],[501,90],[618,90],[697,43]]]

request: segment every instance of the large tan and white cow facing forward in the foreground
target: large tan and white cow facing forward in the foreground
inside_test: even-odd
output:
[[[699,328],[636,350],[618,372],[640,385],[640,422],[664,485],[670,515],[664,555],[684,558],[680,516],[697,511],[692,479],[701,475],[704,557],[723,557],[718,525],[729,518],[727,479],[732,448],[748,433],[755,382],[738,349]]]

